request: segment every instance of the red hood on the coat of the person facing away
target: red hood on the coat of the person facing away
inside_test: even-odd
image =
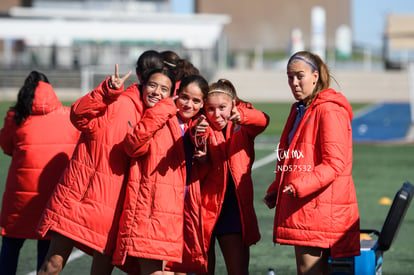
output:
[[[32,104],[32,115],[43,115],[62,107],[62,103],[49,83],[39,81]]]

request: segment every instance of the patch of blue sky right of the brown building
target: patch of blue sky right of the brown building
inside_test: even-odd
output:
[[[388,14],[414,14],[413,0],[352,0],[351,2],[353,39],[357,45],[363,47],[381,47]]]

